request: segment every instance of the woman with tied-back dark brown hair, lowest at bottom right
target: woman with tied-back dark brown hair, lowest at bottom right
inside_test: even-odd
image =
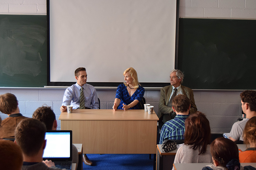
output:
[[[216,138],[211,144],[211,154],[213,164],[202,170],[256,170],[252,166],[240,165],[238,147],[228,138]]]

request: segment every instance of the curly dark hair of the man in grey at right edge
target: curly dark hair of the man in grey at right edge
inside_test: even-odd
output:
[[[251,111],[256,111],[256,91],[245,90],[240,94],[241,100],[249,104]]]

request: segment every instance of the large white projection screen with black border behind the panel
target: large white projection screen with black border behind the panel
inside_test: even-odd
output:
[[[177,0],[47,0],[48,85],[76,82],[78,67],[94,86],[117,86],[129,67],[144,87],[169,83],[176,6]]]

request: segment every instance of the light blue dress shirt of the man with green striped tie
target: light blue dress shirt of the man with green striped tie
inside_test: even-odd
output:
[[[96,89],[89,84],[84,84],[84,99],[85,107],[91,109],[99,109],[99,100],[96,93]],[[81,86],[77,83],[68,87],[63,96],[62,106],[73,106],[73,109],[77,109],[80,106],[80,89]]]

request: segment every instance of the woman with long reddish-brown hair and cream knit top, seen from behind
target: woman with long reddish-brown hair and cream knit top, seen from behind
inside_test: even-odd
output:
[[[210,143],[210,123],[197,111],[185,121],[184,145],[178,149],[174,163],[211,163]]]

